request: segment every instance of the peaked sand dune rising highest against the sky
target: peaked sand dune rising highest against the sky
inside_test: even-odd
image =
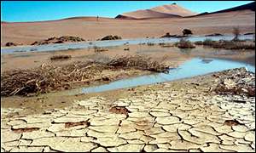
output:
[[[167,17],[184,17],[195,15],[196,13],[189,9],[182,8],[177,4],[162,5],[150,9],[142,9],[124,14],[119,14],[116,18],[121,19],[152,19],[152,18],[167,18]]]

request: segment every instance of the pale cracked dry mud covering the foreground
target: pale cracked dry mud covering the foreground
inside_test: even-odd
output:
[[[254,152],[255,97],[209,92],[217,83],[211,75],[160,83],[30,116],[2,108],[1,151]]]

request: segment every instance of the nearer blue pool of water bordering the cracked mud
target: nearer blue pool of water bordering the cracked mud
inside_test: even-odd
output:
[[[119,88],[132,88],[140,85],[153,84],[157,82],[168,82],[177,79],[195,77],[204,75],[215,71],[224,71],[233,68],[246,67],[248,71],[255,73],[255,65],[249,65],[242,62],[232,61],[228,59],[214,59],[214,58],[194,58],[183,65],[180,65],[176,69],[172,69],[169,73],[154,73],[147,76],[132,77],[128,79],[122,79],[108,84],[90,88],[76,88],[67,91],[61,91],[52,93],[53,95],[74,95],[74,94],[89,94],[102,91],[108,91]]]

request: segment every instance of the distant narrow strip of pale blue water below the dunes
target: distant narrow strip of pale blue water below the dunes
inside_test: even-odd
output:
[[[234,36],[219,36],[219,37],[199,37],[193,36],[188,37],[191,42],[203,41],[206,38],[212,40],[231,40]],[[242,35],[239,37],[241,40],[253,39],[253,35]],[[13,54],[15,52],[43,52],[43,51],[56,51],[56,50],[68,50],[78,48],[94,48],[94,47],[112,47],[120,46],[124,44],[141,44],[141,43],[160,43],[160,42],[178,42],[179,38],[139,38],[139,39],[123,39],[115,41],[96,41],[96,42],[73,42],[73,43],[62,43],[62,44],[48,44],[40,46],[29,46],[29,47],[14,47],[14,48],[1,48],[1,54]]]

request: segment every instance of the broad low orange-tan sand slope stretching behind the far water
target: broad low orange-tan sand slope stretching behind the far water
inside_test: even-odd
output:
[[[189,18],[145,20],[75,17],[41,22],[1,22],[1,46],[6,42],[31,44],[61,36],[82,37],[85,40],[96,40],[108,35],[122,38],[161,37],[166,32],[181,35],[184,28],[189,28],[195,35],[231,34],[235,26],[239,26],[241,33],[255,32],[255,11],[240,9]]]

